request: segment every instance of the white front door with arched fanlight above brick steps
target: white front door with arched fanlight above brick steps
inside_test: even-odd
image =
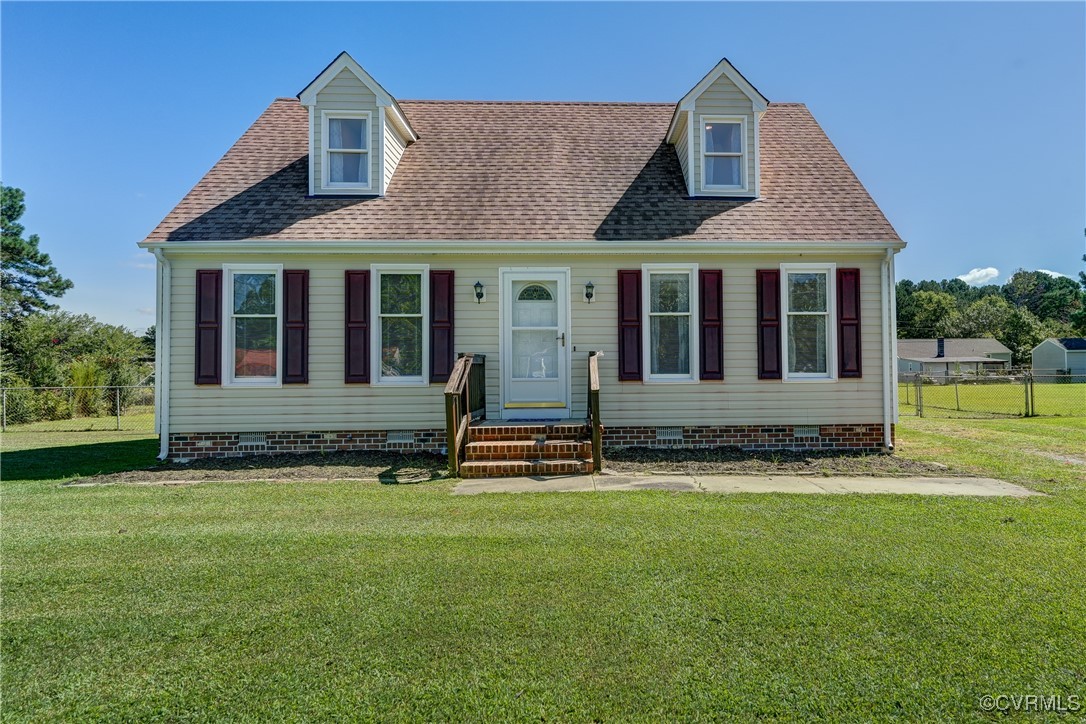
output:
[[[569,417],[569,270],[503,269],[502,417]]]

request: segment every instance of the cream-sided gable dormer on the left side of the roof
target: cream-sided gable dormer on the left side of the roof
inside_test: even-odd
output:
[[[298,98],[310,113],[310,195],[383,196],[418,140],[396,99],[346,52]]]

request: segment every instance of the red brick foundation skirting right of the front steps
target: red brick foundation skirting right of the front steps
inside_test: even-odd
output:
[[[803,425],[818,430],[813,436],[796,436],[793,425],[732,424],[711,428],[682,428],[682,440],[657,439],[657,428],[619,428],[604,424],[604,447],[722,447],[734,445],[748,450],[851,449],[882,450],[883,425]],[[810,432],[810,431],[808,431]],[[891,425],[891,439],[896,434]]]

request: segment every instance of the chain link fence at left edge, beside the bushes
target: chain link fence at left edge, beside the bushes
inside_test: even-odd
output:
[[[0,388],[3,432],[154,432],[154,385]]]

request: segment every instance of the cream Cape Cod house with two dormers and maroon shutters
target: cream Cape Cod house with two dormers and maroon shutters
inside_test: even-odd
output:
[[[163,457],[893,447],[905,244],[727,60],[678,103],[399,101],[342,53],[140,246]]]

